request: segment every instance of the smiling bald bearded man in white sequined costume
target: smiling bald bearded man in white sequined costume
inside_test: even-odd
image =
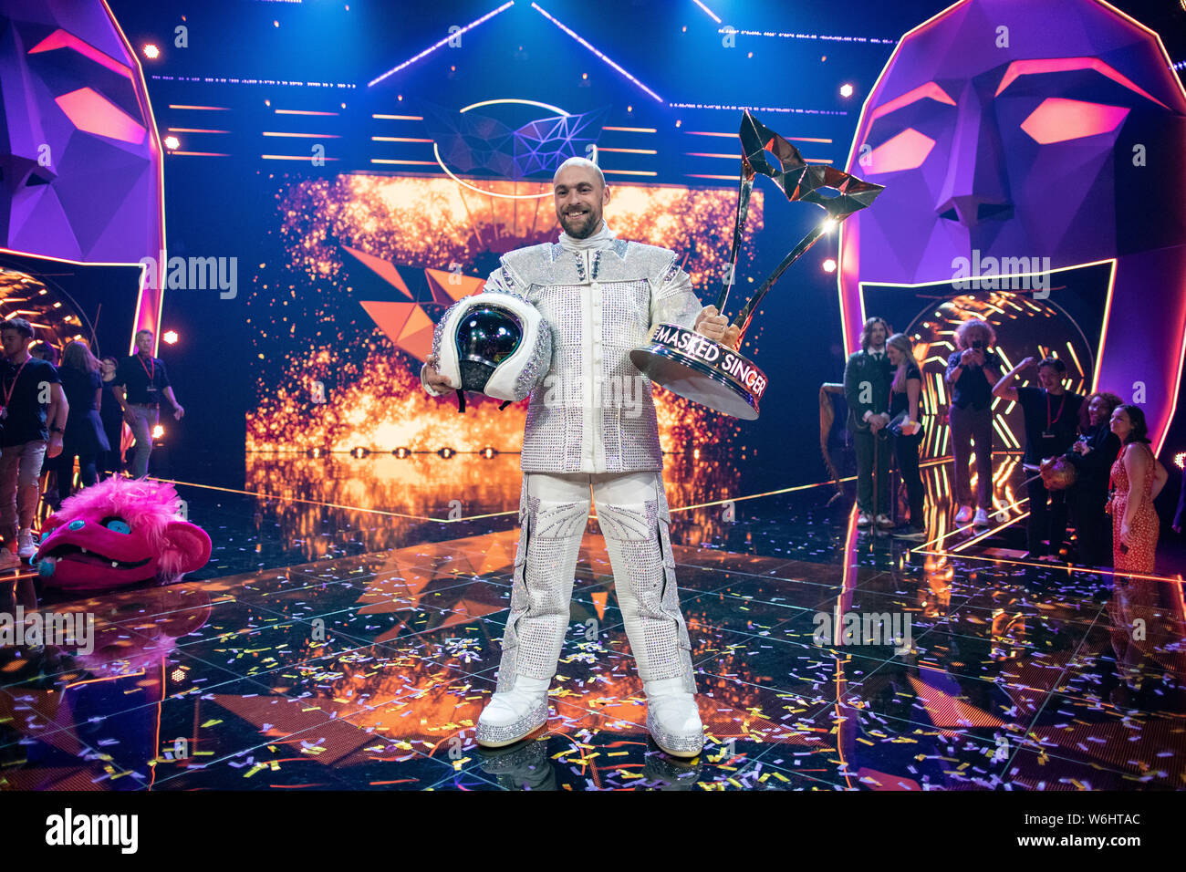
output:
[[[738,329],[700,305],[674,252],[619,240],[606,227],[610,189],[597,164],[569,158],[553,186],[563,228],[557,242],[503,255],[485,286],[538,310],[551,329],[553,358],[528,406],[510,615],[478,743],[510,745],[547,721],[592,490],[646,693],[646,728],[668,753],[694,757],[703,727],[676,590],[658,425],[651,383],[629,355],[659,322],[728,345]],[[421,370],[434,396],[458,387],[436,370],[440,332]]]

